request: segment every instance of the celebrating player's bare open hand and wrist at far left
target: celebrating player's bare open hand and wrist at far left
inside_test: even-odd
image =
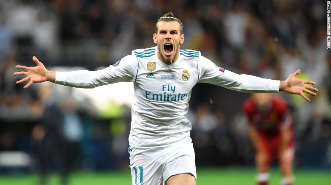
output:
[[[17,65],[15,66],[17,69],[23,69],[25,71],[21,72],[15,72],[14,76],[18,75],[25,75],[26,77],[17,81],[16,83],[23,83],[27,80],[30,80],[23,88],[26,89],[28,88],[33,82],[44,82],[44,81],[51,81],[55,82],[55,72],[54,71],[48,71],[44,64],[39,62],[37,57],[33,56],[32,60],[34,63],[37,64],[36,67],[26,67],[26,66],[21,66]]]

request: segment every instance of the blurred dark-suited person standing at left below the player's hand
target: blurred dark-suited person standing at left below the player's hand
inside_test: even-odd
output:
[[[47,184],[48,174],[58,169],[61,184],[68,184],[69,164],[66,156],[66,141],[63,135],[64,113],[55,101],[49,87],[39,90],[43,113],[40,125],[32,130],[35,164],[40,173],[40,184]]]

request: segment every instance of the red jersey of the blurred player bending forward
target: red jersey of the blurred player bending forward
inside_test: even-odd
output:
[[[293,142],[293,122],[289,116],[286,102],[280,97],[272,96],[269,107],[259,111],[252,98],[243,104],[243,111],[248,117],[248,123],[257,129],[262,138],[279,137],[282,127],[291,127],[291,138]]]

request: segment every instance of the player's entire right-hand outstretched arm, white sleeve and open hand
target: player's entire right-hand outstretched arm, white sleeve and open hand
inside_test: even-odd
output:
[[[296,78],[300,70],[291,74],[286,80],[271,80],[252,75],[238,75],[224,68],[217,67],[212,61],[201,56],[198,64],[199,80],[202,83],[211,83],[231,90],[248,93],[270,93],[285,91],[291,94],[298,94],[305,100],[310,101],[303,92],[316,96],[317,88],[307,86],[315,85],[315,82]],[[203,65],[202,65],[203,64]]]

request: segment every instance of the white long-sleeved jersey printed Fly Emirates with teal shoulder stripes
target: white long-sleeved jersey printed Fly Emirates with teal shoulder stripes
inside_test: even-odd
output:
[[[132,81],[134,99],[129,144],[133,148],[164,147],[191,142],[188,112],[191,91],[199,82],[241,92],[278,92],[279,81],[236,73],[217,67],[199,51],[180,49],[167,65],[157,47],[136,49],[112,66],[98,71],[56,72],[56,83],[94,88]],[[119,89],[120,90],[120,89]]]

